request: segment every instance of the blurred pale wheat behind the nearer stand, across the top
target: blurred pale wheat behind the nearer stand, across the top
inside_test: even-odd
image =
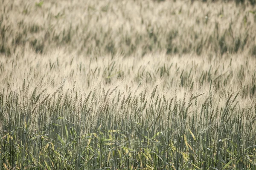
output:
[[[2,0],[0,10],[0,52],[6,55],[29,44],[40,53],[64,47],[83,55],[256,56],[250,1]]]

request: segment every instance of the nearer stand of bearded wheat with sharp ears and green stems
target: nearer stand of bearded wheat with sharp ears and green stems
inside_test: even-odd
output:
[[[3,169],[256,168],[255,59],[1,60]]]

